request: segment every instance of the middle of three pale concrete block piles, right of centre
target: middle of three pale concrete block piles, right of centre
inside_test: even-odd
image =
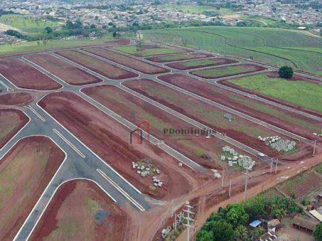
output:
[[[228,166],[232,167],[233,165],[239,165],[248,170],[252,170],[256,162],[249,156],[238,155],[238,152],[229,146],[222,148],[223,154],[221,154],[221,161],[227,161]]]

